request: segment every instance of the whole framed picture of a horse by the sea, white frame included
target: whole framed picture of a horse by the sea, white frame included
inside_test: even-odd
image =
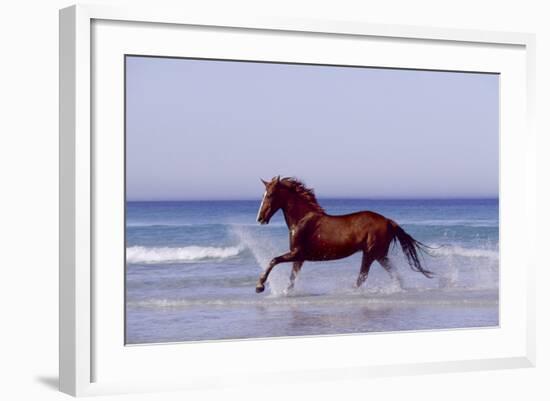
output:
[[[61,10],[61,390],[532,366],[533,46]]]

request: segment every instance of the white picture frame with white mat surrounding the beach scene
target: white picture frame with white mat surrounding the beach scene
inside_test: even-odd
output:
[[[117,25],[118,24],[118,25]],[[369,358],[359,355],[340,357],[334,350],[365,346],[383,349],[385,335],[328,336],[295,339],[258,339],[238,342],[213,342],[209,344],[180,345],[147,345],[124,347],[120,336],[120,277],[114,277],[116,283],[110,284],[108,274],[98,274],[98,261],[104,266],[108,260],[119,260],[116,249],[110,252],[103,243],[120,244],[120,239],[99,235],[106,221],[117,221],[120,217],[120,204],[117,203],[118,215],[110,214],[109,196],[121,196],[120,188],[123,177],[112,174],[112,179],[101,179],[106,171],[118,171],[121,148],[117,143],[108,140],[96,141],[94,130],[105,129],[120,133],[120,69],[113,69],[109,64],[120,62],[119,57],[137,49],[141,54],[173,55],[170,46],[160,46],[160,39],[174,32],[186,35],[186,27],[192,27],[202,47],[214,43],[212,52],[220,58],[230,58],[221,50],[216,50],[220,39],[227,45],[231,41],[249,40],[250,49],[258,48],[257,38],[269,41],[271,46],[262,48],[265,57],[289,61],[290,53],[277,53],[278,48],[288,49],[288,42],[281,46],[280,41],[288,40],[295,35],[297,53],[301,46],[299,38],[305,44],[322,37],[324,44],[333,39],[341,43],[350,41],[384,41],[384,46],[401,46],[403,52],[393,56],[379,46],[377,66],[404,67],[406,61],[416,58],[414,68],[472,70],[472,66],[482,66],[479,71],[491,71],[504,74],[506,79],[501,86],[501,219],[507,224],[501,228],[501,258],[504,266],[501,283],[501,326],[497,329],[433,331],[424,333],[389,334],[393,346],[402,346],[403,353],[390,357],[383,352],[377,355],[374,349],[368,353]],[[143,31],[143,32],[142,32]],[[122,32],[122,33],[121,33]],[[125,34],[126,32],[127,34]],[[145,32],[145,34],[144,34]],[[179,34],[179,33],[178,33]],[[95,35],[95,39],[94,39]],[[238,38],[237,38],[238,36]],[[287,39],[278,38],[285,36]],[[247,39],[248,38],[248,39]],[[294,40],[293,39],[293,40]],[[131,41],[138,41],[139,46]],[[316,40],[316,39],[315,39]],[[510,367],[528,367],[535,363],[534,339],[534,277],[537,261],[533,256],[520,259],[520,254],[533,255],[527,252],[534,243],[535,232],[535,133],[531,127],[534,87],[534,36],[522,33],[483,32],[459,29],[438,29],[410,26],[375,25],[366,22],[294,20],[292,18],[261,18],[257,16],[235,15],[188,15],[185,10],[161,10],[150,8],[111,8],[107,6],[73,6],[60,12],[60,389],[72,395],[92,395],[132,391],[160,391],[167,389],[202,389],[207,387],[246,384],[253,379],[257,383],[292,382],[293,380],[326,380],[328,378],[363,377],[380,375],[399,375],[417,373],[435,373],[441,371],[466,371],[479,369],[500,369]],[[405,42],[399,44],[398,42]],[[169,41],[170,42],[170,41]],[[256,44],[254,44],[256,43]],[[277,45],[279,43],[279,45]],[[309,43],[309,42],[308,42]],[[380,44],[380,43],[378,43]],[[128,47],[126,47],[128,46]],[[255,47],[254,47],[255,46]],[[294,45],[292,45],[294,46]],[[290,46],[290,47],[292,47]],[[371,50],[376,53],[377,45]],[[139,48],[138,48],[139,47]],[[227,46],[230,48],[231,46]],[[244,46],[246,47],[246,46]],[[345,47],[345,46],[344,46]],[[414,49],[414,55],[407,49]],[[327,48],[330,49],[330,46]],[[336,47],[334,47],[336,51]],[[477,49],[477,50],[476,50]],[[493,58],[483,59],[484,54],[494,50]],[[291,51],[290,49],[289,51]],[[185,55],[185,51],[182,50]],[[231,49],[227,50],[231,51]],[[233,50],[234,52],[238,50]],[[104,53],[103,53],[104,52]],[[437,61],[433,55],[439,53],[443,60]],[[453,54],[461,54],[464,59],[452,61]],[[411,53],[411,54],[409,54]],[[250,53],[253,54],[253,53]],[[285,55],[286,54],[286,55]],[[378,54],[378,53],[376,53]],[[430,56],[430,54],[432,56]],[[181,54],[180,54],[181,55]],[[195,56],[196,54],[192,54]],[[424,58],[422,58],[424,55]],[[247,55],[241,57],[247,58]],[[248,56],[252,57],[252,56]],[[296,56],[301,57],[301,56]],[[310,57],[316,57],[312,53]],[[327,56],[328,57],[328,56]],[[348,60],[349,53],[341,55]],[[386,59],[382,62],[383,57]],[[475,60],[476,57],[478,60]],[[119,60],[119,61],[117,61]],[[405,61],[403,61],[405,60]],[[451,61],[450,61],[451,60]],[[481,61],[480,61],[481,60]],[[349,63],[354,63],[349,59]],[[361,65],[364,60],[358,61]],[[378,63],[378,64],[377,64]],[[405,63],[405,64],[403,64]],[[480,64],[476,64],[480,63]],[[483,64],[485,63],[485,64]],[[374,65],[369,64],[369,65]],[[449,68],[452,66],[452,68]],[[104,74],[104,68],[113,72]],[[96,75],[94,75],[96,74]],[[103,74],[99,78],[97,74]],[[95,78],[94,78],[95,77]],[[105,91],[94,86],[106,79],[105,87],[110,88],[110,101],[105,98]],[[511,94],[517,94],[513,98]],[[103,99],[98,101],[98,98]],[[112,103],[111,103],[112,102]],[[112,117],[106,116],[103,109],[112,110]],[[103,113],[103,114],[102,114]],[[116,114],[118,113],[118,114]],[[118,117],[117,117],[118,115]],[[103,125],[103,120],[107,121]],[[118,128],[117,128],[118,127]],[[114,132],[114,131],[109,131]],[[117,135],[113,135],[116,141]],[[508,162],[517,162],[512,166]],[[112,164],[110,164],[112,163]],[[118,167],[117,167],[118,166]],[[98,178],[99,177],[99,178]],[[121,181],[122,179],[122,181]],[[106,183],[106,184],[104,184]],[[103,185],[105,185],[103,187]],[[97,195],[106,194],[104,195]],[[111,195],[109,195],[111,194]],[[117,198],[119,199],[119,198]],[[514,231],[524,229],[527,234],[520,242],[514,242]],[[507,244],[514,243],[514,249]],[[98,251],[99,249],[99,251]],[[121,249],[119,250],[122,251]],[[104,259],[107,258],[107,259]],[[112,259],[108,259],[112,258]],[[117,259],[118,258],[118,259]],[[105,263],[104,263],[105,262]],[[519,278],[512,283],[508,280],[506,266],[521,266]],[[123,266],[121,265],[121,271]],[[117,284],[118,283],[118,284]],[[101,300],[96,291],[101,287]],[[94,298],[95,297],[95,298]],[[105,300],[116,307],[107,310]],[[111,313],[112,312],[112,313]],[[109,320],[110,319],[110,320]],[[513,322],[512,322],[513,321]],[[112,330],[111,330],[112,328]],[[113,334],[113,332],[116,332]],[[480,340],[476,348],[476,338]],[[444,344],[468,342],[471,350],[456,346],[454,354],[449,351],[439,352],[420,358],[406,348],[420,347],[421,344],[439,342]],[[264,351],[269,344],[269,351]],[[387,344],[386,344],[387,345]],[[176,347],[176,348],[172,348]],[[302,352],[311,360],[296,363],[292,368],[285,368],[284,358],[277,359],[290,348],[292,352]],[[437,347],[436,347],[437,348]],[[322,359],[314,356],[323,349],[326,354]],[[333,351],[331,351],[333,350]],[[177,352],[179,357],[173,355]],[[249,368],[244,366],[247,358],[258,352],[268,352],[273,358],[270,368]],[[366,352],[366,351],[365,351]],[[408,352],[408,353],[407,353]],[[181,355],[187,360],[194,360],[195,366],[181,366]],[[205,365],[201,359],[211,360],[215,355],[221,359],[231,360],[231,364],[221,363],[216,369]],[[179,359],[174,359],[179,358]],[[347,359],[346,359],[347,358]],[[304,361],[305,358],[301,360]],[[366,360],[370,359],[370,360]],[[174,368],[177,361],[178,374],[155,372],[140,366],[155,366],[162,362],[167,369]],[[240,362],[239,362],[240,361]],[[243,366],[239,366],[239,363]],[[112,367],[112,368],[111,368]],[[124,367],[124,369],[121,369]],[[186,371],[187,369],[187,371]],[[181,372],[187,373],[182,374]],[[124,374],[120,373],[124,372]]]

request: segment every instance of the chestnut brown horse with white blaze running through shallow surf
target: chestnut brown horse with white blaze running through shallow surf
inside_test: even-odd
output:
[[[393,220],[369,211],[331,216],[319,205],[313,190],[295,178],[276,177],[270,182],[262,182],[265,193],[257,220],[268,224],[271,217],[282,209],[290,231],[290,252],[271,260],[260,275],[256,292],[264,291],[269,273],[279,263],[293,263],[290,290],[304,261],[342,259],[359,251],[363,252],[363,259],[356,287],[360,287],[375,260],[392,275],[388,250],[396,240],[401,244],[411,269],[432,277],[433,273],[420,264],[418,254],[429,247],[415,240]]]

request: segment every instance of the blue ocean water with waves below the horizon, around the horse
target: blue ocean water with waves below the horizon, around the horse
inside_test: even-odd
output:
[[[306,262],[287,292],[290,264],[258,276],[288,251],[279,212],[256,223],[259,201],[128,202],[126,343],[159,343],[499,324],[497,199],[321,199],[329,214],[372,210],[415,239],[432,279],[412,271],[399,245],[399,279],[374,263],[354,289],[361,255]]]

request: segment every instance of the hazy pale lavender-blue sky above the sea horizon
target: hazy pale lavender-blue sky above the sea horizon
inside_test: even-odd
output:
[[[497,197],[494,74],[126,58],[128,200]]]

